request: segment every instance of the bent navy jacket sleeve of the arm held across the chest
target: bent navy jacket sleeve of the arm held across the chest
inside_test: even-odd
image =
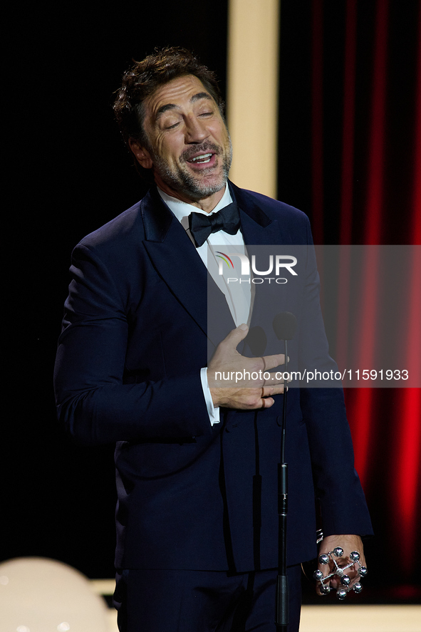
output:
[[[125,289],[94,249],[79,244],[54,371],[58,418],[68,432],[86,445],[210,433],[199,371],[124,383],[128,331]]]

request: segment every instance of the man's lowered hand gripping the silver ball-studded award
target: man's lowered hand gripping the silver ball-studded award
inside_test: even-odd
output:
[[[360,536],[358,535],[328,535],[325,538],[323,538],[323,540],[321,541],[318,554],[319,555],[321,555],[322,553],[328,554],[331,551],[333,551],[333,549],[335,549],[336,546],[341,546],[341,549],[343,549],[343,556],[340,558],[336,558],[338,566],[346,566],[346,564],[349,564],[350,562],[349,555],[351,551],[358,551],[358,553],[360,554],[361,566],[366,566],[365,557],[364,557],[364,547],[363,547],[363,542]],[[326,577],[326,575],[328,575],[335,569],[335,565],[333,564],[333,561],[331,561],[329,564],[318,564],[318,569],[322,571],[323,575]],[[352,589],[355,582],[358,581],[358,564],[354,564],[353,566],[350,566],[350,568],[345,572],[347,575],[350,576],[351,581],[350,581],[349,589]],[[330,584],[331,584],[331,588],[338,589],[339,586],[341,585],[341,579],[338,578],[338,576],[334,576],[332,577]],[[316,588],[316,592],[318,595],[321,595],[320,586],[321,586],[320,581],[318,581],[317,588]]]

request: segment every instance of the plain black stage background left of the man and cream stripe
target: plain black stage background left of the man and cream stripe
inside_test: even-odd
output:
[[[56,421],[53,363],[71,250],[145,193],[111,109],[123,71],[155,46],[183,45],[224,89],[227,3],[214,1],[212,11],[187,0],[32,5],[10,26],[7,121],[18,151],[6,266],[16,276],[13,333],[4,336],[13,406],[4,414],[1,558],[48,556],[112,577],[113,447],[73,445]]]

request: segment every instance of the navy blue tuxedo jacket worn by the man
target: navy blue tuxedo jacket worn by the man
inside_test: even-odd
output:
[[[303,291],[273,306],[274,314],[298,318],[291,368],[304,357],[311,367],[316,356],[319,367],[335,367],[306,215],[230,187],[246,244],[308,246],[297,268]],[[208,274],[157,191],[85,237],[71,274],[56,360],[58,416],[84,444],[116,443],[116,566],[275,568],[283,395],[257,415],[222,409],[221,423],[211,427],[199,377],[219,343],[207,327]],[[216,289],[212,296],[222,336],[234,323],[224,296]],[[251,325],[259,322],[255,305]],[[273,332],[268,336],[266,353],[282,352]],[[341,389],[291,388],[287,423],[288,564],[295,564],[316,556],[315,492],[325,534],[369,534],[371,526]]]

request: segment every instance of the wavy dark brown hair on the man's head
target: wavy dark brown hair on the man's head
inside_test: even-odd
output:
[[[144,147],[148,147],[143,129],[145,98],[159,86],[186,75],[194,75],[202,81],[224,116],[224,102],[219,92],[217,77],[209,68],[203,66],[187,48],[155,48],[152,55],[148,55],[142,61],[135,61],[135,65],[124,73],[123,85],[117,91],[117,98],[113,104],[115,118],[126,144],[129,138],[134,138]]]

